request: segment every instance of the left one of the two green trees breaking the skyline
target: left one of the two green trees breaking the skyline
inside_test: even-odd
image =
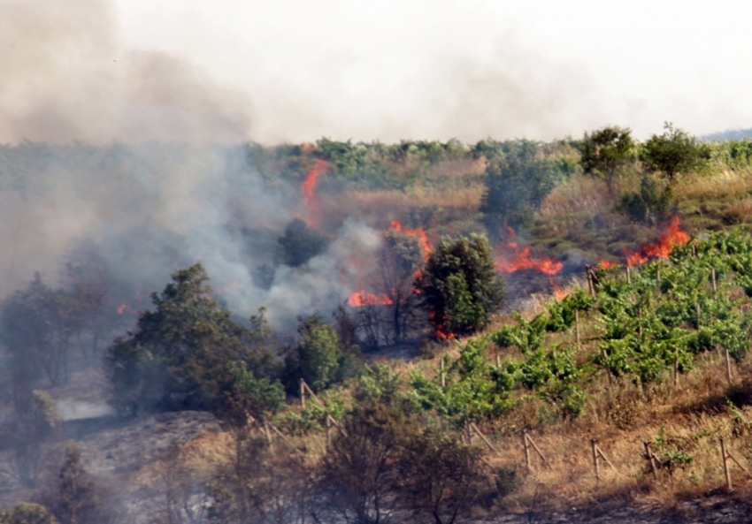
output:
[[[614,183],[620,168],[636,158],[632,130],[612,125],[593,133],[585,133],[579,143],[582,169],[589,175],[606,181],[609,194],[614,194]]]

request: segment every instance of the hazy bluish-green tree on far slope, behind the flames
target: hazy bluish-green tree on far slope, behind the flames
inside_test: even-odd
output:
[[[542,158],[537,144],[523,141],[514,155],[498,156],[486,168],[486,191],[480,201],[488,232],[531,224],[533,212],[571,173],[569,164]]]

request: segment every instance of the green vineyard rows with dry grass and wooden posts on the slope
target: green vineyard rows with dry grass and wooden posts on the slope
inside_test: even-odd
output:
[[[588,270],[581,285],[536,315],[496,319],[480,335],[444,343],[433,359],[377,364],[350,387],[325,391],[301,410],[288,406],[274,423],[311,450],[311,437],[335,431],[350,404],[380,399],[417,410],[426,425],[491,450],[487,462],[497,475],[517,472],[518,503],[530,500],[534,486],[571,501],[595,486],[607,493],[644,486],[652,475],[642,444],[652,446],[661,479],[652,490],[717,488],[718,437],[752,456],[742,376],[752,327],[752,238],[729,231],[673,239],[646,262]],[[538,406],[533,414],[531,406]],[[678,409],[685,410],[679,419]],[[602,460],[613,453],[616,466],[609,460],[600,474],[610,483],[596,482],[583,430],[608,443],[592,441]],[[532,470],[520,444],[523,433],[532,438],[527,432],[549,454],[540,466],[533,460]]]

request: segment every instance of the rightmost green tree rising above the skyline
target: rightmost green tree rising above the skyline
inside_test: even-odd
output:
[[[664,130],[645,142],[640,159],[648,170],[663,173],[672,185],[680,174],[701,169],[708,162],[710,146],[669,122],[664,124]]]

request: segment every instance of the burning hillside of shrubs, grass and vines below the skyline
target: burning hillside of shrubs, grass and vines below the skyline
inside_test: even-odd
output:
[[[736,519],[752,147],[689,140],[700,155],[669,175],[649,140],[594,168],[593,136],[2,148],[5,505]],[[438,319],[426,275],[472,234],[506,301],[479,313],[467,280]],[[55,480],[71,471],[88,491]]]

